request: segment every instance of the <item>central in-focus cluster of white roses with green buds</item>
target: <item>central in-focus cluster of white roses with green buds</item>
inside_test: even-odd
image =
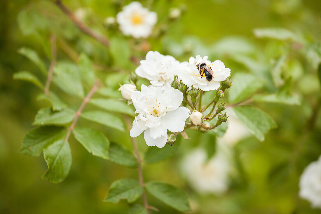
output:
[[[202,63],[212,69],[211,81],[207,80],[204,74],[201,75],[198,65]],[[190,117],[190,126],[200,126],[207,130],[214,129],[227,120],[226,113],[222,112],[225,109],[224,104],[218,105],[218,110],[212,115],[219,99],[224,96],[222,90],[215,93],[210,113],[204,116],[202,112],[212,103],[209,103],[205,110],[201,110],[201,101],[199,101],[199,109],[196,110],[200,91],[217,90],[221,86],[220,82],[227,81],[226,78],[230,76],[230,69],[225,68],[220,60],[212,63],[207,60],[207,56],[201,58],[197,55],[196,58],[191,57],[189,62],[179,62],[172,56],[149,51],[146,58],[140,61],[135,73],[149,80],[151,85],[148,87],[142,85],[141,91],[136,91],[136,85],[125,84],[119,90],[123,98],[131,99],[136,109],[135,113],[139,113],[133,121],[130,136],[137,137],[144,132],[144,139],[148,146],[163,147],[167,142],[175,142],[177,133],[187,127],[185,121],[188,117]],[[192,104],[188,101],[187,95],[190,96]],[[194,110],[191,115],[187,107],[180,106],[183,100]],[[218,115],[218,113],[221,114]],[[206,127],[202,124],[204,120],[212,120],[217,115],[218,121],[215,126]],[[168,134],[167,130],[172,133]]]

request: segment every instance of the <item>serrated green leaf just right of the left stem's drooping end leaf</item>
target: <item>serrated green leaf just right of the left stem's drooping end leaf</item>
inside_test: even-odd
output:
[[[74,137],[94,156],[108,159],[109,140],[101,132],[90,128],[74,128]]]

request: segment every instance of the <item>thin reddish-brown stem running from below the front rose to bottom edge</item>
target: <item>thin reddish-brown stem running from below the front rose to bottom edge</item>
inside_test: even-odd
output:
[[[128,118],[127,115],[124,115],[124,118],[125,118],[125,121],[126,121],[128,130],[130,130],[131,122],[130,122],[130,120],[129,120],[129,118]],[[140,156],[139,156],[139,151],[138,151],[138,148],[137,148],[137,143],[136,143],[135,138],[131,138],[131,140],[132,140],[133,147],[134,147],[135,157],[136,157],[136,160],[137,160],[137,162],[138,162],[137,171],[138,171],[139,184],[140,184],[142,187],[144,187],[144,186],[145,186],[145,183],[144,183],[144,180],[143,180],[142,159],[141,159]],[[147,198],[146,198],[146,194],[145,194],[144,191],[143,191],[143,193],[142,193],[142,198],[143,198],[144,207],[145,207],[145,209],[147,210],[147,212],[148,212],[149,214],[152,213],[152,212],[151,212],[151,209],[152,209],[152,210],[159,211],[157,208],[154,208],[154,207],[151,207],[151,206],[148,205],[148,203],[147,203]]]

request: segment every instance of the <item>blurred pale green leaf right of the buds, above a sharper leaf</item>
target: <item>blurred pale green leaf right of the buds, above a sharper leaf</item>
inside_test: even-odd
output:
[[[239,103],[263,86],[262,80],[246,73],[236,73],[232,76],[232,86],[229,89],[229,101]]]

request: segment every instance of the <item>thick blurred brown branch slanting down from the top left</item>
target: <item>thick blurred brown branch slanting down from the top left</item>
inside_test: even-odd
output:
[[[84,22],[77,19],[77,17],[74,15],[74,13],[65,4],[63,4],[61,2],[61,0],[55,0],[55,3],[68,16],[68,18],[77,25],[77,27],[81,31],[88,34],[89,36],[91,36],[95,40],[99,41],[101,44],[103,44],[107,47],[109,46],[109,41],[105,37],[92,31]]]

